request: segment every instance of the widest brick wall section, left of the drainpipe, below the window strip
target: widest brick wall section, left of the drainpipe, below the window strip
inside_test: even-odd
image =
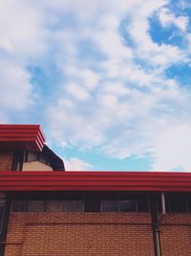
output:
[[[154,255],[149,214],[13,213],[6,256]]]

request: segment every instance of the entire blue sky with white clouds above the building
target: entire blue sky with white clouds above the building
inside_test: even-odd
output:
[[[191,171],[191,2],[0,0],[0,123],[67,170]]]

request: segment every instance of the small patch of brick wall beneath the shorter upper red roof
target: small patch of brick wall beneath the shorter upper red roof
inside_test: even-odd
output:
[[[0,171],[11,171],[13,151],[0,151]]]

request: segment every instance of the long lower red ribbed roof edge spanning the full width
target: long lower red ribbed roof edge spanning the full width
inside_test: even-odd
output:
[[[0,191],[189,191],[191,173],[0,172]]]

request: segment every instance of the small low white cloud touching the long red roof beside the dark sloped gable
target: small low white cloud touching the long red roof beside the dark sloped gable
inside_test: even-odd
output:
[[[64,159],[64,164],[66,171],[91,171],[93,168],[91,164],[75,157]]]

